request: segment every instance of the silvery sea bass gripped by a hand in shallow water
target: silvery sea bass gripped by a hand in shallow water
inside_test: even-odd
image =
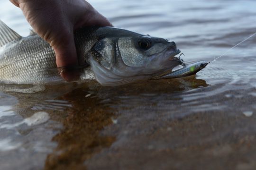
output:
[[[148,79],[180,64],[174,42],[115,27],[82,27],[74,33],[79,65],[78,81],[123,85]],[[21,37],[0,21],[0,82],[47,84],[62,82],[55,52],[36,33]]]

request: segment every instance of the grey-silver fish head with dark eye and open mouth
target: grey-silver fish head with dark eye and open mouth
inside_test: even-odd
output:
[[[123,85],[161,74],[180,64],[175,42],[118,30],[96,42],[90,53],[91,70],[101,85]],[[102,37],[102,35],[101,35]]]

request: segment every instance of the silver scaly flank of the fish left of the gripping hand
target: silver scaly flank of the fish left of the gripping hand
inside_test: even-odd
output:
[[[25,37],[2,47],[0,79],[5,83],[40,83],[59,81],[48,70],[56,68],[55,53],[38,35]]]

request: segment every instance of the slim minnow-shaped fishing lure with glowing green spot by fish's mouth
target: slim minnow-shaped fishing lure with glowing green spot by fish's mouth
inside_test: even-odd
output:
[[[192,76],[199,72],[201,69],[205,68],[210,62],[199,61],[190,65],[183,65],[183,68],[177,69],[170,73],[165,73],[163,75],[152,77],[151,79],[170,79],[170,78],[179,78],[185,76]]]

